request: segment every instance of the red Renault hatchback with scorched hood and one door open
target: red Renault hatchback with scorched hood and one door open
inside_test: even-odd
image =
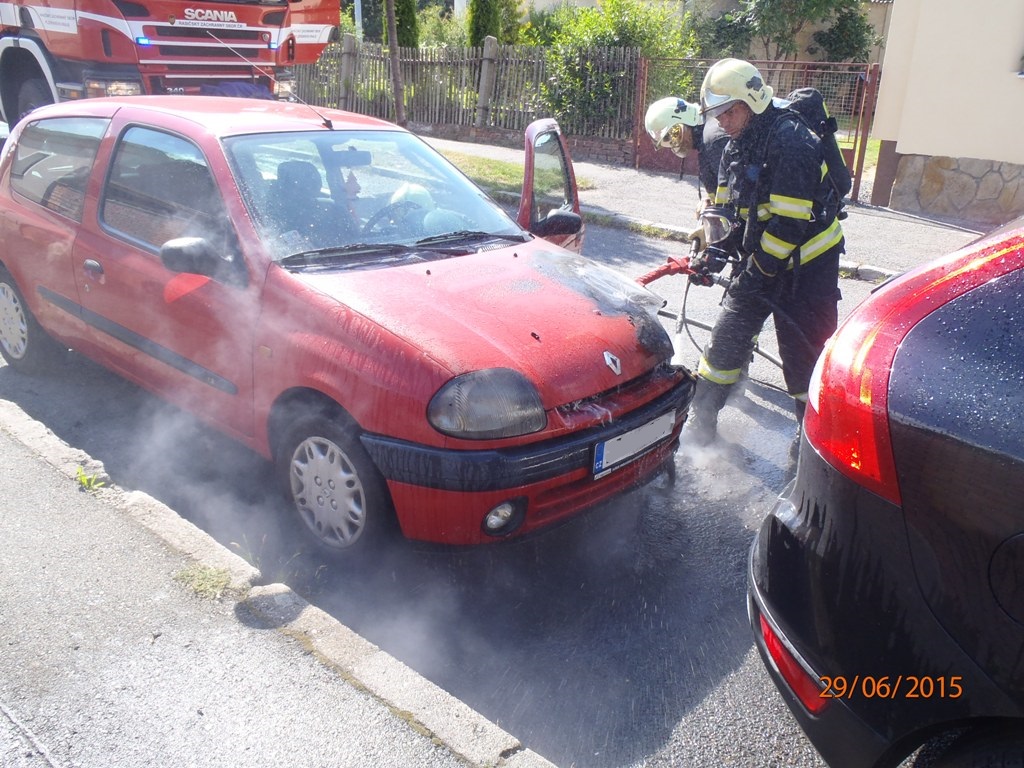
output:
[[[693,378],[660,300],[535,237],[583,226],[557,125],[526,151],[517,223],[357,115],[40,109],[0,161],[0,350],[70,347],[259,452],[330,548],[540,528],[671,462]]]

